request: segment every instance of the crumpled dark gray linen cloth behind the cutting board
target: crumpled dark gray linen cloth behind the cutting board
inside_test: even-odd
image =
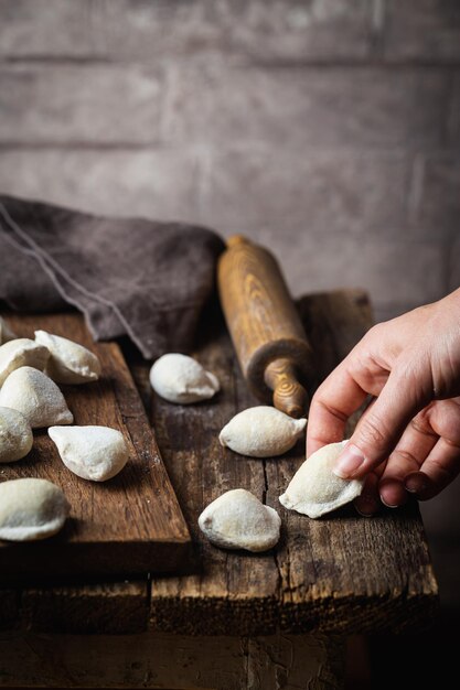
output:
[[[30,312],[71,304],[95,339],[128,335],[146,358],[193,346],[223,249],[200,226],[0,195],[0,301]]]

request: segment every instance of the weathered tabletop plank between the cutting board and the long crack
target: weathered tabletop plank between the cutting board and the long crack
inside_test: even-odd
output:
[[[217,375],[218,396],[186,408],[154,397],[153,427],[195,541],[201,572],[153,581],[152,625],[195,634],[270,633],[276,628],[279,578],[272,554],[254,559],[215,549],[201,539],[196,524],[203,506],[224,490],[245,486],[260,500],[266,490],[263,463],[238,457],[218,442],[218,432],[235,412],[257,401],[235,374],[227,335],[221,331],[213,336],[199,358]]]

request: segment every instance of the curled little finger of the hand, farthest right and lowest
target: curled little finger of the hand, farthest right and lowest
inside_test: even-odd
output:
[[[405,487],[419,500],[437,496],[460,472],[460,446],[439,439],[420,467],[405,478]]]

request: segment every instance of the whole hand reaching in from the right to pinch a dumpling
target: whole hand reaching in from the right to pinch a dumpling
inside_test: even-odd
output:
[[[307,456],[342,440],[368,395],[334,468],[366,476],[356,508],[436,496],[460,472],[460,290],[368,331],[311,401]]]

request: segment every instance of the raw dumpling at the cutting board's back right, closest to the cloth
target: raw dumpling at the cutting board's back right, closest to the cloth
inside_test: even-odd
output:
[[[89,349],[46,331],[35,331],[35,341],[50,351],[45,373],[57,384],[86,384],[100,376],[100,363]]]

